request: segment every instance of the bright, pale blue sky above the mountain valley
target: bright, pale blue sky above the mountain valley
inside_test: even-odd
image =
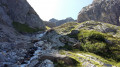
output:
[[[80,10],[93,0],[27,0],[42,20],[58,20],[72,17],[77,19]]]

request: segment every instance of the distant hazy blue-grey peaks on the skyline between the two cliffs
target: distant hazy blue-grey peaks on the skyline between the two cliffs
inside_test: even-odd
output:
[[[74,20],[71,17],[68,17],[68,18],[63,19],[63,20],[57,20],[57,19],[52,18],[49,20],[49,22],[55,23],[56,26],[60,26],[60,25],[67,23],[67,22],[76,22],[76,20]]]

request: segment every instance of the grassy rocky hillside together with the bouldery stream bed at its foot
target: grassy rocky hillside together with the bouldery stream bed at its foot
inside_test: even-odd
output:
[[[18,66],[119,67],[119,33],[119,26],[103,22],[65,23],[33,36],[34,46]]]

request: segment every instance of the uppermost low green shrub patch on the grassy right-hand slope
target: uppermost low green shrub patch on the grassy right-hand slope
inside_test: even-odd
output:
[[[89,40],[89,41],[105,41],[105,36],[103,33],[97,31],[90,31],[90,30],[80,30],[78,34],[79,40]]]

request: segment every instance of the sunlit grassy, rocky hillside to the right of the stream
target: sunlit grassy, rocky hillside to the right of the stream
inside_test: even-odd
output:
[[[81,67],[119,67],[120,27],[95,21],[65,23],[46,37],[60,54],[71,57]],[[60,47],[59,47],[60,46]]]

